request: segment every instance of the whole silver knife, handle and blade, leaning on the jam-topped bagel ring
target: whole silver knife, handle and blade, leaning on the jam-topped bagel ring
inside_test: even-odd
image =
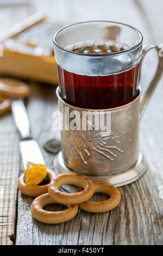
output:
[[[23,169],[26,169],[26,164],[28,161],[45,164],[39,144],[31,136],[30,123],[23,100],[13,100],[11,111],[15,125],[21,137],[21,141],[19,142],[19,149]]]

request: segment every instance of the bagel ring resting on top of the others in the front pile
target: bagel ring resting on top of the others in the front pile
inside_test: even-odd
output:
[[[79,193],[64,193],[59,190],[62,185],[77,185],[84,190]],[[94,186],[92,181],[82,174],[65,173],[58,175],[48,187],[49,196],[61,204],[78,204],[92,197]]]

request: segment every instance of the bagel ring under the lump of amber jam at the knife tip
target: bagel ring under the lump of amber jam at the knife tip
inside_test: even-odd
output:
[[[57,176],[57,173],[54,172],[54,170],[47,169],[47,178],[51,181],[55,179]],[[24,174],[22,174],[18,178],[17,186],[18,189],[23,193],[26,194],[26,196],[29,197],[37,197],[40,196],[40,194],[45,194],[48,192],[48,185],[40,185],[40,186],[34,186],[34,187],[26,187],[24,183]]]

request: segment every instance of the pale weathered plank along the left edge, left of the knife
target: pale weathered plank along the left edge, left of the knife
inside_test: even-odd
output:
[[[15,240],[17,178],[20,172],[18,136],[10,114],[0,120],[0,244]]]

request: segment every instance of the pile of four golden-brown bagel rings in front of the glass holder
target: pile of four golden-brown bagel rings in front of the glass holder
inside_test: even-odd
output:
[[[57,175],[54,170],[47,169],[49,184],[26,187],[24,174],[18,179],[18,188],[26,196],[36,197],[30,207],[33,217],[40,222],[48,224],[63,223],[71,220],[78,213],[78,206],[87,212],[110,211],[120,203],[120,191],[107,182],[95,182],[82,174],[66,173]],[[79,186],[77,193],[61,192],[62,185]],[[109,199],[102,202],[92,202],[89,199],[94,193],[105,193]],[[46,211],[43,209],[48,204],[61,204],[67,206],[62,211]]]

